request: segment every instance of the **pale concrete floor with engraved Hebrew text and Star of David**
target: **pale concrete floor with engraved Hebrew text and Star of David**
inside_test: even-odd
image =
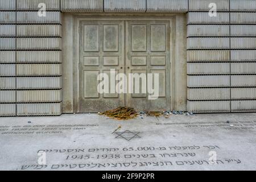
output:
[[[256,113],[3,117],[0,169],[255,170],[255,125]]]

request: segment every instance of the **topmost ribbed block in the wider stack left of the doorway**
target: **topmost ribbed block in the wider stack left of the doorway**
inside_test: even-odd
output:
[[[46,5],[46,10],[60,10],[60,0],[16,0],[17,1],[17,10],[39,10],[42,6],[39,6],[40,3]]]

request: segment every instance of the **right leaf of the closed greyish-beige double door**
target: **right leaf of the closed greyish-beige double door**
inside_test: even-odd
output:
[[[169,27],[170,22],[168,21],[126,22],[126,73],[159,74],[159,98],[149,100],[149,90],[147,89],[146,94],[127,94],[127,106],[134,107],[136,110],[158,111],[170,109]],[[154,78],[152,81],[154,86]],[[135,79],[133,79],[133,85],[134,82]],[[142,86],[147,84],[140,80],[140,90]]]

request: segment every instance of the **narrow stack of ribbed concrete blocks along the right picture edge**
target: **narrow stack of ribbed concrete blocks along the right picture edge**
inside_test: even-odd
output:
[[[256,1],[230,0],[232,112],[256,111]]]

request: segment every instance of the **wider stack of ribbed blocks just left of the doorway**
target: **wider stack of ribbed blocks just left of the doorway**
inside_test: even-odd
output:
[[[46,16],[38,15],[40,3]],[[17,115],[61,114],[60,3],[16,0]]]

